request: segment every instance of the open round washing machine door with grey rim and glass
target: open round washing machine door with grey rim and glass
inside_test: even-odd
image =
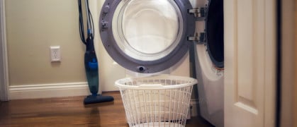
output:
[[[121,66],[156,73],[177,63],[194,35],[188,0],[106,0],[100,35],[108,54]]]

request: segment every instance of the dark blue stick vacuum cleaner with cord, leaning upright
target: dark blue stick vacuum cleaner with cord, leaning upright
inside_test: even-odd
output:
[[[86,5],[86,27],[87,37],[84,37],[84,17],[82,12],[82,0],[78,0],[79,4],[79,33],[82,42],[86,45],[86,53],[84,54],[84,68],[86,71],[86,79],[88,80],[91,95],[84,99],[84,104],[94,104],[101,102],[113,102],[113,97],[98,95],[99,90],[99,67],[94,49],[94,22],[89,10],[89,0],[84,0]]]

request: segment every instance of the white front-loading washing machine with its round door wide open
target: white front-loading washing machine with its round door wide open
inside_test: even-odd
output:
[[[106,51],[135,73],[166,71],[193,49],[200,114],[214,126],[223,126],[223,25],[223,0],[106,0],[99,19]]]

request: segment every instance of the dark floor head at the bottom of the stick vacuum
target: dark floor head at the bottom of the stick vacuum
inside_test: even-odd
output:
[[[84,98],[84,104],[94,104],[101,102],[113,102],[113,97],[111,96],[103,96],[103,95],[89,95]]]

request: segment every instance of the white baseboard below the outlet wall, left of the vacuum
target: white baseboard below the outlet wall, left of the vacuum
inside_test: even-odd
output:
[[[9,99],[35,99],[89,95],[87,83],[15,85],[9,87]]]

